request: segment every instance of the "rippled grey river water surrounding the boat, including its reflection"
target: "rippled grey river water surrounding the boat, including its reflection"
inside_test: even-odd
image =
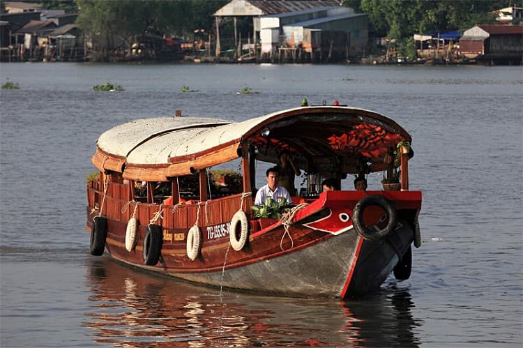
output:
[[[20,89],[0,94],[1,347],[522,346],[520,66],[1,63],[7,78]],[[125,91],[91,91],[105,82]],[[303,98],[411,133],[423,245],[409,280],[345,301],[266,297],[89,254],[100,133],[176,109],[241,121]]]

